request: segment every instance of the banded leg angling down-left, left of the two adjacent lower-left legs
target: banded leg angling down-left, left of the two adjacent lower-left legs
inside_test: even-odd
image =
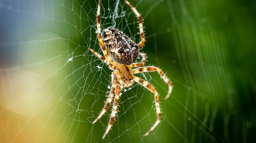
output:
[[[113,71],[111,76],[112,76],[112,85],[111,85],[110,95],[108,96],[106,104],[103,107],[102,111],[100,112],[99,116],[97,117],[97,119],[95,119],[93,121],[93,124],[96,123],[96,121],[98,119],[100,119],[102,117],[102,115],[105,114],[105,112],[108,110],[108,107],[109,107],[110,103],[112,102],[112,99],[113,99],[113,96],[114,96],[114,93],[115,93],[115,90],[116,90],[116,86],[117,86],[117,73],[115,71]]]

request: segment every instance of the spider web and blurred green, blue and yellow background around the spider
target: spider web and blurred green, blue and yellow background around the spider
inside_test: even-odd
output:
[[[97,0],[0,0],[1,142],[253,142],[256,131],[256,34],[253,1],[130,1],[144,19],[146,65],[121,92],[116,121],[102,139],[110,110],[94,125],[110,91],[100,50]],[[139,42],[137,18],[123,1],[102,1],[102,28]]]

